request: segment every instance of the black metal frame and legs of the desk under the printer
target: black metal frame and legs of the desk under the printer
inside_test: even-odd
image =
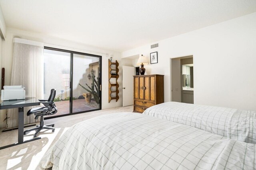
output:
[[[25,101],[25,100],[17,100],[17,101]],[[40,105],[39,101],[36,102],[36,103],[25,103],[25,104],[0,106],[0,110],[1,109],[14,109],[14,108],[18,107],[18,142],[14,143],[14,144],[9,144],[9,145],[6,145],[6,146],[2,146],[2,147],[0,147],[0,150],[4,149],[4,148],[9,148],[11,146],[16,146],[18,144],[23,144],[23,143],[26,143],[26,142],[30,142],[30,141],[33,141],[33,140],[38,140],[38,139],[41,138],[41,137],[37,137],[37,138],[32,138],[30,140],[25,140],[24,141],[24,107],[37,106],[37,105]]]

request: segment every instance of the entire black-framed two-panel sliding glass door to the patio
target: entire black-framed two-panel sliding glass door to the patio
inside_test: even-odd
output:
[[[44,99],[56,89],[58,108],[52,117],[101,109],[100,72],[101,56],[45,47]]]

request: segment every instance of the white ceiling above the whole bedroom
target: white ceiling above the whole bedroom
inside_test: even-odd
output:
[[[0,0],[7,27],[125,51],[256,12],[256,0]]]

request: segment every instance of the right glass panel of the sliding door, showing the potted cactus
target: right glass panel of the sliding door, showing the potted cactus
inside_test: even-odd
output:
[[[74,53],[72,113],[100,109],[100,58]]]

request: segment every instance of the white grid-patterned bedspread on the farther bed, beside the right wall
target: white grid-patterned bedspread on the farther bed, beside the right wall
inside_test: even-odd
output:
[[[256,113],[252,111],[166,102],[146,109],[143,114],[256,144]]]

